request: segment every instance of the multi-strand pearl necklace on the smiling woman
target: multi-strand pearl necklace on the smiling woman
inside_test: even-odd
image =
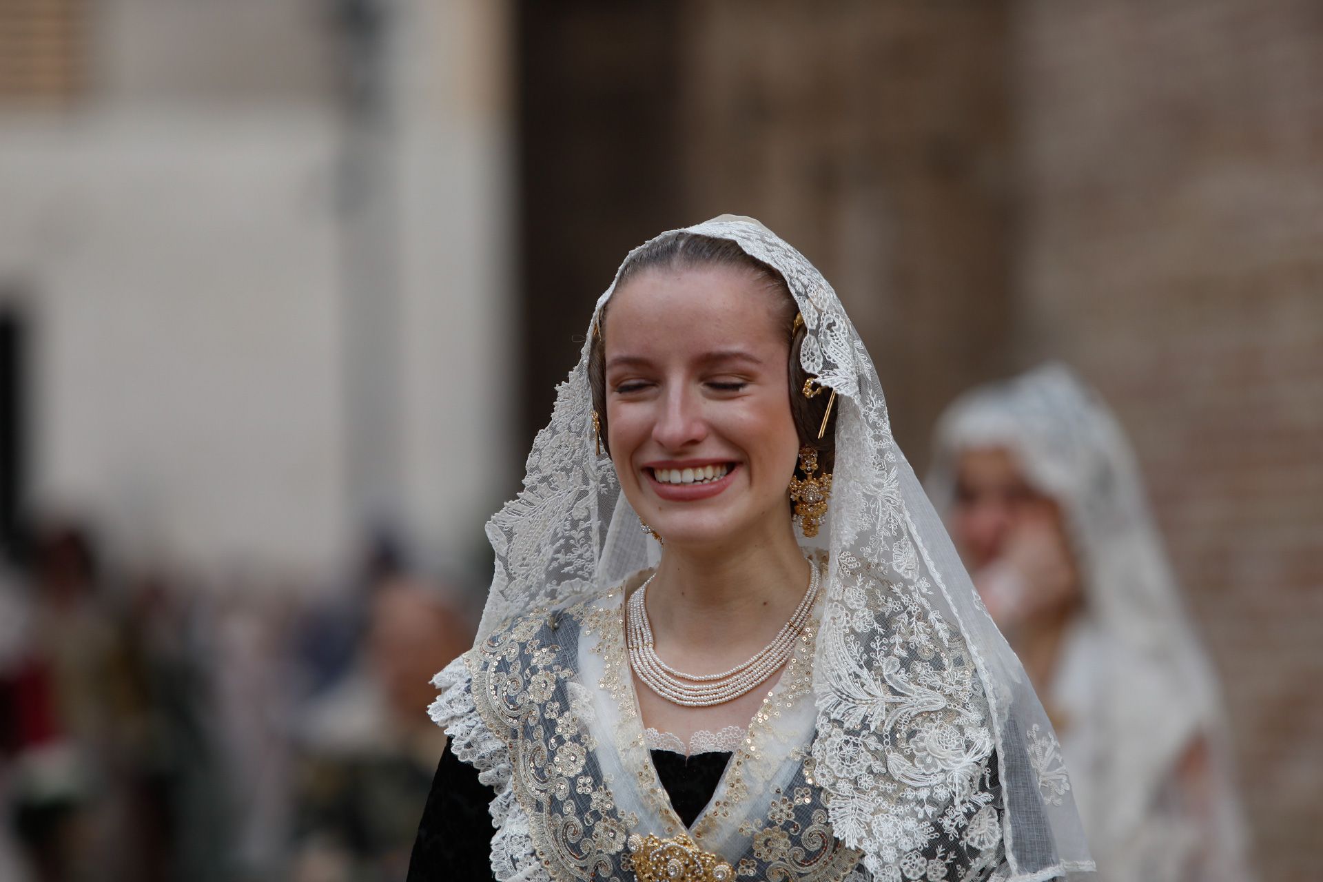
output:
[[[630,666],[634,668],[639,680],[647,684],[648,689],[671,703],[685,707],[724,705],[757,689],[790,660],[795,651],[795,640],[808,624],[808,616],[818,600],[818,565],[810,562],[808,591],[771,643],[749,661],[724,673],[687,674],[662,661],[654,648],[652,625],[648,623],[648,612],[644,606],[648,584],[654,578],[656,578],[655,574],[639,586],[639,590],[630,598],[626,611],[626,644],[630,649]]]

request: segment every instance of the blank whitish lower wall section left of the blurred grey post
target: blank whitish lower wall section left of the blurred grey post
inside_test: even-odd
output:
[[[328,120],[107,110],[0,126],[0,276],[33,321],[38,509],[185,559],[331,554]]]

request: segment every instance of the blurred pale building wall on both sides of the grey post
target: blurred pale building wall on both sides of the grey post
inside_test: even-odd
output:
[[[0,107],[32,502],[91,514],[122,553],[321,574],[369,513],[348,461],[372,409],[345,389],[332,5],[95,4],[82,94]],[[397,406],[359,455],[394,475],[370,513],[455,558],[508,492],[504,4],[389,5],[393,346],[357,369]]]

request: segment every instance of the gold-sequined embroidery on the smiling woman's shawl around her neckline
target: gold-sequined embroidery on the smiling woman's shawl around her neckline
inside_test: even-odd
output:
[[[468,656],[472,694],[478,714],[504,741],[511,756],[511,784],[528,817],[532,845],[556,879],[632,879],[627,846],[639,817],[617,808],[611,787],[605,780],[595,754],[593,710],[582,694],[587,686],[576,678],[578,641],[589,628],[610,633],[619,628],[622,643],[603,641],[609,676],[602,688],[617,693],[623,659],[623,619],[619,592],[603,603],[581,603],[561,614],[532,614],[497,629]],[[556,623],[552,628],[550,624]],[[609,628],[607,621],[614,621]],[[603,635],[605,636],[605,635]],[[811,657],[811,645],[799,652]],[[617,657],[618,656],[618,657]],[[614,676],[613,676],[614,674]],[[785,677],[792,677],[787,669]],[[802,697],[811,677],[799,674],[798,690],[787,684],[791,698]],[[624,697],[622,694],[622,697]],[[632,705],[632,696],[627,696]],[[753,726],[770,725],[774,702],[755,715]],[[638,747],[643,747],[642,727]],[[623,729],[623,725],[622,725]],[[646,748],[644,748],[646,750]],[[737,766],[744,751],[737,751]],[[639,787],[648,792],[647,804],[663,820],[675,819],[665,791],[651,764],[634,770]],[[736,770],[738,775],[738,770]],[[728,772],[729,774],[729,772]],[[800,767],[791,796],[777,793],[773,817],[747,833],[751,848],[734,856],[730,863],[744,875],[775,882],[827,882],[843,878],[859,863],[860,854],[845,849],[832,836],[822,792],[812,787]],[[726,799],[746,793],[746,785],[730,787]],[[669,816],[669,819],[667,817]],[[721,824],[721,807],[709,807],[708,828]],[[704,817],[693,833],[701,836]],[[676,820],[677,824],[677,820]],[[683,833],[683,828],[675,834]],[[668,833],[669,834],[669,833]],[[761,837],[761,838],[759,838]]]

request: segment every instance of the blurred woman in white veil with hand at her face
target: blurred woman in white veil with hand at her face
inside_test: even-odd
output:
[[[1212,668],[1105,405],[1060,365],[967,393],[929,493],[1061,735],[1099,877],[1250,878]]]

